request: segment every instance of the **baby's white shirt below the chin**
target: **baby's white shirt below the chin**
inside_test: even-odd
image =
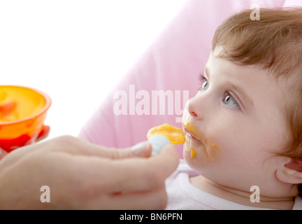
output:
[[[180,160],[178,169],[166,180],[168,193],[166,210],[264,210],[229,202],[192,186],[189,177],[196,175],[198,174],[185,160]],[[302,210],[301,197],[296,197],[293,210]]]

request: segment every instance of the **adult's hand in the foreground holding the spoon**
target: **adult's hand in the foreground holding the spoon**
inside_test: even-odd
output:
[[[121,150],[74,137],[18,148],[0,161],[0,209],[164,209],[178,153],[151,151],[148,142]],[[41,202],[41,186],[50,202]]]

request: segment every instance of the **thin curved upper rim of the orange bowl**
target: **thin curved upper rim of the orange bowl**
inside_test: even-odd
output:
[[[13,125],[15,123],[22,123],[26,120],[31,120],[31,119],[35,119],[39,116],[41,116],[43,113],[45,113],[46,111],[48,111],[48,109],[50,108],[51,104],[52,104],[52,100],[50,98],[50,96],[48,94],[46,94],[45,92],[41,91],[41,90],[37,90],[35,88],[32,88],[32,87],[26,87],[26,86],[22,86],[22,85],[0,85],[0,88],[1,87],[17,87],[17,88],[22,88],[22,89],[27,89],[27,90],[31,90],[31,91],[34,91],[38,94],[40,94],[42,97],[44,97],[45,101],[46,101],[46,104],[45,106],[43,107],[43,109],[41,109],[41,111],[39,113],[37,113],[36,115],[34,116],[30,116],[28,118],[24,118],[24,119],[21,119],[21,120],[14,120],[14,121],[10,121],[10,122],[7,122],[7,123],[0,123],[0,126],[4,126],[4,125]]]

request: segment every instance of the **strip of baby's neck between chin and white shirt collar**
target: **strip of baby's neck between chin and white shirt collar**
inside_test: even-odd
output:
[[[250,195],[251,192],[244,192],[242,190],[236,190],[233,188],[228,188],[226,186],[220,186],[216,183],[209,181],[203,176],[192,176],[189,179],[190,183],[199,188],[206,193],[211,195],[215,195],[224,200],[228,200],[230,202],[235,202],[238,204],[243,204],[249,207],[259,207],[265,209],[280,209],[280,210],[292,210],[294,206],[294,198],[286,197],[286,198],[271,198],[261,196],[260,202],[251,202]]]

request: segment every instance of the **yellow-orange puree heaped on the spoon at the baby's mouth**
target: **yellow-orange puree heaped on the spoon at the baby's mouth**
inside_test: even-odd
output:
[[[169,124],[152,127],[147,133],[147,138],[150,139],[154,135],[162,135],[169,139],[171,144],[174,145],[184,144],[186,140],[180,128]]]

